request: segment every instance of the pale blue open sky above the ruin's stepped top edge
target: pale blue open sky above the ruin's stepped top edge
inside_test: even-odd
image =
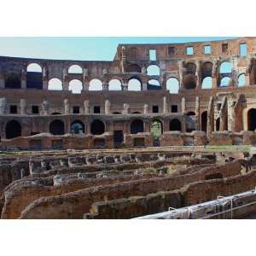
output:
[[[0,38],[0,55],[60,60],[111,61],[118,44],[165,44],[221,39],[224,38]]]

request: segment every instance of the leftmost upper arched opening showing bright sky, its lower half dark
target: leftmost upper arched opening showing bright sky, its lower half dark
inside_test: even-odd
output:
[[[43,89],[42,67],[38,63],[26,67],[26,88]]]

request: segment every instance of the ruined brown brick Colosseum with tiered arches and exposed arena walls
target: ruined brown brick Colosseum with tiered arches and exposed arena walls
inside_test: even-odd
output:
[[[254,214],[255,84],[256,38],[0,56],[1,218]]]

